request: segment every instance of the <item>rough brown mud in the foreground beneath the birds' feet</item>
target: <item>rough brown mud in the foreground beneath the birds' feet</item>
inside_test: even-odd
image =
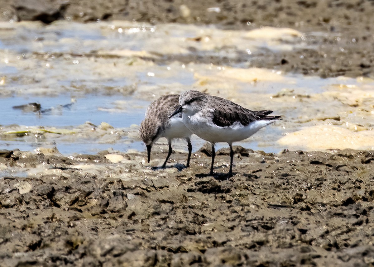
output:
[[[374,263],[374,151],[235,150],[229,180],[224,148],[215,177],[205,150],[156,171],[145,153],[1,151],[29,174],[1,183],[2,266]]]

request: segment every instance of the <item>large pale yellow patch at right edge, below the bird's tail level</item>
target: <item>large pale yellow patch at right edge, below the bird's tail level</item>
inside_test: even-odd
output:
[[[374,131],[352,132],[334,125],[305,127],[278,140],[281,145],[308,150],[329,148],[374,149]]]

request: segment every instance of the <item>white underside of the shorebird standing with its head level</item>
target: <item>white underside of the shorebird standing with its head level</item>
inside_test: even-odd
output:
[[[229,127],[221,127],[215,125],[211,118],[203,116],[202,113],[197,112],[191,116],[182,114],[183,122],[188,129],[200,138],[209,142],[236,142],[248,138],[276,120],[257,120],[243,126],[236,122]]]

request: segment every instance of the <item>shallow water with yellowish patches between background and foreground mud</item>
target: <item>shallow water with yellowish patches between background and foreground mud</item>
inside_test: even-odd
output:
[[[279,152],[345,148],[349,140],[352,148],[374,149],[365,145],[373,138],[373,80],[251,68],[260,54],[307,47],[304,33],[295,30],[253,30],[124,21],[1,23],[0,147],[57,147],[62,154],[144,150],[137,130],[147,105],[194,88],[283,116],[238,145]],[[223,58],[222,64],[210,63],[214,58]],[[40,110],[13,108],[32,102]],[[329,138],[336,127],[347,130],[341,143]],[[30,132],[16,133],[22,131]],[[193,138],[194,149],[203,142]],[[165,140],[155,147],[165,149]],[[186,151],[184,141],[174,147]]]

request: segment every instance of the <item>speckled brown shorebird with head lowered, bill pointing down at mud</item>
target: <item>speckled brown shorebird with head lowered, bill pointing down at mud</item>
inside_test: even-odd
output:
[[[164,95],[153,101],[145,111],[145,118],[140,124],[139,135],[147,147],[148,163],[151,157],[151,148],[159,138],[168,139],[169,153],[161,168],[165,168],[166,162],[172,153],[171,140],[184,138],[188,144],[188,158],[186,167],[190,166],[192,145],[191,132],[184,126],[181,114],[169,118],[169,115],[178,107],[179,95]]]

